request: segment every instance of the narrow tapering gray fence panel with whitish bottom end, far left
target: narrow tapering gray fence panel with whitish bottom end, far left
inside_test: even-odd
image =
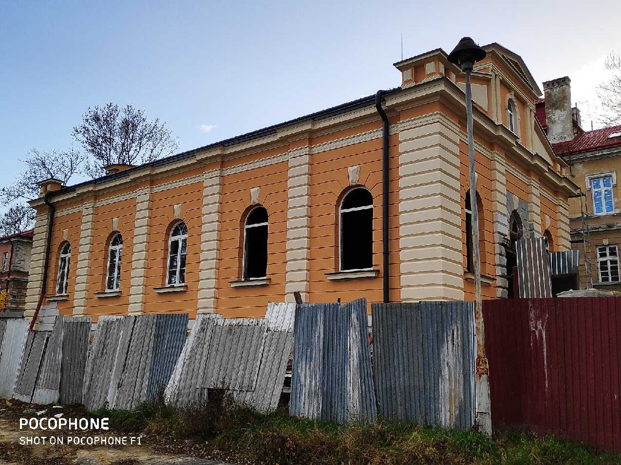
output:
[[[60,395],[60,361],[63,348],[63,329],[65,317],[56,317],[52,334],[47,341],[39,378],[32,394],[34,404],[47,405],[58,402]]]

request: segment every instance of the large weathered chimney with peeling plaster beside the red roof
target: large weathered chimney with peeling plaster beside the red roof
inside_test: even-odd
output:
[[[565,76],[543,83],[548,139],[553,144],[574,138],[570,82],[570,79]]]

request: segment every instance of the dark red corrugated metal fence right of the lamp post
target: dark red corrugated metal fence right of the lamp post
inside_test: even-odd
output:
[[[492,424],[621,453],[621,298],[483,301]]]

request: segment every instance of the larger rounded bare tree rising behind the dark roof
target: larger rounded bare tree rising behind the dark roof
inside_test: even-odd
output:
[[[166,123],[160,123],[159,118],[148,120],[145,110],[132,105],[89,107],[71,135],[89,154],[84,171],[93,178],[106,174],[108,165],[147,163],[179,148],[179,139],[172,136]]]

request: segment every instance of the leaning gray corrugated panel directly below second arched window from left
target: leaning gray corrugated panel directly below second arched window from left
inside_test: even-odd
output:
[[[123,316],[100,316],[84,370],[83,404],[94,410],[107,401],[112,370],[124,329]]]

